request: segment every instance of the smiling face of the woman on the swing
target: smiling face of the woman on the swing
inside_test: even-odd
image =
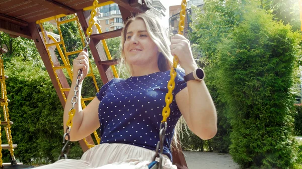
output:
[[[129,65],[157,66],[159,49],[147,33],[146,26],[141,19],[132,21],[126,32],[124,43],[125,60]]]

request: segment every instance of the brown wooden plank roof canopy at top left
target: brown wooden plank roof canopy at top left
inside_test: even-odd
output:
[[[70,15],[91,7],[93,0],[0,0],[0,31],[32,39],[28,25],[38,20]],[[99,4],[109,1],[99,0]],[[145,0],[112,0],[118,4],[123,20],[149,9]]]

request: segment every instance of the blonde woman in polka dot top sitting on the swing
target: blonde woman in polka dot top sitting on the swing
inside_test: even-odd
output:
[[[215,107],[203,81],[204,72],[197,68],[193,59],[189,41],[175,35],[170,43],[158,21],[147,14],[138,14],[127,21],[121,34],[121,65],[128,67],[131,76],[109,81],[85,109],[81,104],[75,105],[70,140],[83,139],[100,127],[101,144],[85,152],[81,160],[62,159],[41,168],[147,168],[159,141],[173,55],[178,56],[183,69],[176,69],[174,100],[170,105],[164,140],[163,168],[176,169],[171,162],[170,147],[181,116],[200,138],[210,139],[216,134]],[[73,74],[77,75],[78,70],[83,69],[85,78],[88,66],[88,54],[80,53],[73,61]],[[74,76],[71,89],[76,78]],[[70,90],[64,109],[64,124],[73,95]]]

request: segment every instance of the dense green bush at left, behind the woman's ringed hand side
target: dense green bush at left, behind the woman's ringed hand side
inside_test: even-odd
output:
[[[63,107],[47,72],[32,61],[13,58],[6,70],[6,80],[15,156],[24,163],[49,163],[57,160],[62,148]],[[2,115],[3,116],[3,115]],[[2,131],[2,140],[6,142]],[[9,151],[3,151],[9,162]],[[83,153],[78,142],[72,142],[69,158]]]

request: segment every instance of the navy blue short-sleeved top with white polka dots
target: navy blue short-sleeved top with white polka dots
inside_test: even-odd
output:
[[[171,113],[164,142],[164,154],[172,160],[171,141],[174,128],[181,116],[175,95],[187,86],[184,71],[177,68]],[[155,150],[159,141],[162,110],[170,71],[149,75],[114,78],[96,94],[99,104],[101,143],[132,144]]]

